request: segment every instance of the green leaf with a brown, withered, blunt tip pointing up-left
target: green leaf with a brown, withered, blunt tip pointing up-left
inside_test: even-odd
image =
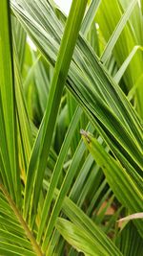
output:
[[[102,148],[97,140],[92,137],[92,134],[84,130],[81,130],[81,134],[95,161],[106,175],[116,198],[118,198],[131,213],[142,212],[142,178],[136,175],[136,182],[134,182],[133,177],[128,175],[121,164]],[[142,221],[135,221],[140,234],[142,234],[141,222]]]

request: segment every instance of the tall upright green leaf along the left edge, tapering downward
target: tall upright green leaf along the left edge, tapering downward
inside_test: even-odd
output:
[[[17,154],[17,136],[15,120],[15,92],[13,78],[10,4],[0,3],[0,119],[2,139],[0,153],[3,161],[3,178],[8,185],[11,197],[21,207],[21,184]]]

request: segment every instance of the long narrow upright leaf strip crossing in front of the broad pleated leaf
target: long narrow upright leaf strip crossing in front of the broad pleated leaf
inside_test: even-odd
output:
[[[34,192],[32,202],[32,216],[36,214],[38,198],[42,186],[43,176],[47,164],[47,158],[51,147],[51,139],[54,131],[55,121],[60,105],[63,88],[67,79],[70,63],[72,60],[73,49],[76,43],[80,24],[86,9],[87,0],[72,1],[72,8],[69,14],[65,32],[61,41],[61,46],[57,61],[54,68],[53,78],[51,81],[51,90],[49,101],[45,113],[44,123],[39,130],[32,154],[27,177],[27,185],[25,191],[24,216],[28,216],[31,202],[31,190],[34,183]],[[41,139],[40,139],[41,138]],[[37,149],[37,141],[40,149]],[[35,163],[36,161],[36,163]],[[36,166],[37,164],[37,166]],[[31,175],[32,173],[32,175]],[[32,204],[31,204],[32,205]]]

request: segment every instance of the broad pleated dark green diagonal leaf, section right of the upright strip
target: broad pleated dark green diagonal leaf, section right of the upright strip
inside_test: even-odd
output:
[[[17,5],[14,6],[17,12],[23,12],[22,9],[19,9]],[[29,9],[27,7],[27,12]],[[38,12],[38,11],[37,11]],[[39,13],[39,12],[38,12]],[[19,15],[19,14],[18,14]],[[56,17],[51,12],[50,14],[53,24],[53,34],[52,31],[49,31],[47,39],[50,39],[50,36],[57,37],[54,33],[55,28],[58,30],[58,21],[56,22]],[[24,18],[21,15],[21,18]],[[31,16],[31,24],[33,23]],[[50,24],[49,24],[50,25]],[[30,26],[27,30],[32,33],[32,38],[35,38],[33,35],[33,29]],[[46,29],[45,29],[46,30]],[[41,36],[43,32],[41,32]],[[36,34],[37,36],[37,34]],[[43,52],[43,44],[45,39],[43,38],[42,42],[39,38],[39,48]],[[91,118],[92,123],[102,134],[106,142],[110,145],[112,151],[115,155],[122,161],[122,164],[128,168],[129,172],[131,170],[131,162],[135,169],[141,173],[141,166],[137,167],[136,160],[139,160],[139,165],[141,164],[142,158],[142,128],[141,122],[138,119],[136,113],[133,110],[132,105],[129,104],[125,95],[121,92],[120,88],[112,81],[112,78],[107,74],[106,69],[99,63],[99,60],[92,53],[91,48],[87,45],[86,41],[79,36],[77,41],[78,48],[75,50],[74,62],[72,62],[69,78],[68,78],[68,87],[72,92],[72,95],[75,99],[83,106],[88,116]],[[54,49],[53,49],[54,48]],[[45,53],[47,59],[54,58],[56,53],[57,44],[52,45],[52,54],[51,54],[51,43],[49,41],[49,52]],[[53,59],[52,59],[53,60]],[[52,64],[52,61],[51,61]],[[77,68],[79,67],[79,69]],[[78,85],[77,85],[78,84]],[[100,107],[94,107],[100,105]],[[105,106],[106,103],[106,106]],[[102,105],[102,106],[101,106]],[[106,107],[106,110],[105,110]],[[109,109],[110,107],[110,109]],[[108,109],[107,109],[108,108]],[[113,113],[112,113],[113,112]],[[115,117],[113,116],[115,114]],[[115,121],[115,119],[117,119]],[[108,119],[108,120],[107,120]],[[119,120],[118,120],[119,119]],[[105,124],[106,120],[106,124]],[[119,129],[114,128],[114,122],[116,127],[119,126]],[[121,123],[120,123],[121,122]],[[120,125],[119,125],[120,123]],[[112,128],[112,134],[111,134]],[[127,130],[128,132],[127,132]],[[125,136],[122,134],[126,134]],[[131,138],[132,134],[132,138]],[[124,137],[124,139],[123,139]],[[126,138],[126,139],[125,139]],[[111,141],[112,140],[112,141]],[[125,142],[126,140],[126,142]],[[124,141],[124,146],[123,146]],[[130,143],[129,143],[130,142]],[[133,147],[133,145],[135,147]],[[118,145],[118,146],[117,146]],[[120,146],[119,146],[120,145]],[[126,146],[125,146],[126,145]],[[120,147],[120,149],[119,149]],[[139,148],[138,148],[139,147]],[[140,152],[139,152],[139,151]],[[133,152],[131,152],[133,151]],[[137,152],[138,151],[138,152]],[[137,153],[135,156],[134,152]],[[126,157],[125,157],[126,155]],[[137,159],[133,159],[137,157]],[[126,159],[125,159],[126,158]],[[127,160],[128,159],[128,160]],[[137,162],[138,162],[137,160]],[[142,164],[141,164],[142,165]]]

